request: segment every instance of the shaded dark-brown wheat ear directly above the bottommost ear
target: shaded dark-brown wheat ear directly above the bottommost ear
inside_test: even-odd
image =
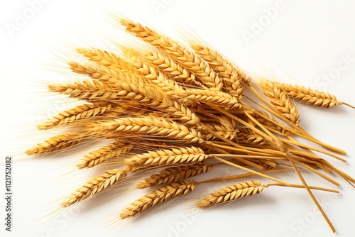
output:
[[[168,184],[171,182],[177,182],[179,180],[185,180],[189,177],[200,175],[208,172],[214,165],[209,165],[207,162],[202,161],[193,165],[182,165],[177,167],[169,167],[165,170],[161,170],[155,175],[146,178],[145,180],[138,182],[138,189],[145,189],[147,187],[153,187],[158,184]]]

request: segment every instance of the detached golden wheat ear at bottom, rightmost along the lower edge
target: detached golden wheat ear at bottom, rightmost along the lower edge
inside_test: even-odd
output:
[[[199,208],[216,206],[224,202],[231,202],[242,197],[259,194],[263,189],[263,185],[257,181],[240,182],[239,184],[230,185],[208,194],[207,197],[197,202],[196,206]]]

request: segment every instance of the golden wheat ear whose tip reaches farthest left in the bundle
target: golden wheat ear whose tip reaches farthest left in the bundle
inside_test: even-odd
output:
[[[26,150],[27,155],[40,155],[50,153],[56,150],[70,148],[73,145],[80,143],[83,136],[80,133],[65,133],[54,136],[43,143],[38,143],[34,148]]]

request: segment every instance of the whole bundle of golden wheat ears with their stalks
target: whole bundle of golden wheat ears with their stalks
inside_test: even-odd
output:
[[[82,60],[69,62],[68,68],[87,79],[50,84],[48,89],[82,104],[38,125],[40,130],[70,129],[70,133],[63,132],[26,151],[28,155],[45,155],[72,148],[83,139],[107,140],[108,145],[96,150],[89,145],[92,143],[82,144],[92,151],[82,155],[78,169],[106,165],[110,170],[74,190],[61,203],[63,208],[126,183],[130,177],[136,183],[122,188],[151,190],[119,215],[129,219],[210,182],[253,175],[271,183],[237,182],[205,194],[195,206],[233,202],[270,186],[300,188],[308,192],[335,231],[311,189],[338,191],[308,185],[302,172],[310,171],[337,186],[335,176],[327,172],[351,185],[355,180],[323,158],[327,155],[345,161],[339,156],[345,152],[302,128],[297,101],[326,108],[349,104],[326,92],[252,79],[199,40],[190,40],[188,45],[128,18],[114,20],[141,40],[141,46],[118,45],[121,53],[77,48]],[[228,165],[240,173],[200,180],[216,165]],[[295,173],[301,184],[279,180],[274,172]]]

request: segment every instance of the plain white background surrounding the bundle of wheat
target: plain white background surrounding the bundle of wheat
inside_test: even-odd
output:
[[[22,158],[29,145],[48,138],[48,133],[35,131],[35,124],[64,107],[61,97],[51,96],[45,88],[49,82],[77,78],[63,75],[68,72],[65,60],[75,57],[75,47],[94,45],[115,50],[112,40],[121,43],[132,39],[107,21],[105,9],[169,35],[181,37],[182,29],[194,31],[256,78],[303,84],[355,104],[354,1],[53,0],[35,5],[33,16],[30,2],[1,1],[1,159],[5,155]],[[21,16],[27,18],[22,24],[18,20]],[[329,160],[354,176],[355,111],[345,106],[327,110],[305,105],[299,110],[303,128],[348,152],[346,164]],[[282,187],[269,187],[252,199],[195,214],[191,213],[194,209],[187,209],[193,200],[185,197],[146,218],[121,223],[113,231],[110,228],[117,222],[110,221],[115,220],[114,215],[142,193],[108,199],[117,194],[109,192],[48,221],[38,220],[50,212],[50,202],[97,174],[65,175],[80,155],[83,153],[64,153],[60,158],[13,164],[13,232],[4,231],[1,194],[1,236],[336,236],[305,190]],[[0,167],[3,190],[4,166]],[[229,170],[219,167],[212,176]],[[300,183],[292,175],[278,177]],[[305,177],[309,184],[335,188],[310,173],[305,172]],[[341,194],[314,193],[337,228],[337,236],[352,236],[355,192],[340,177],[333,177],[342,184]],[[268,182],[258,177],[253,180]],[[220,185],[201,187],[195,197]],[[187,219],[181,217],[184,214]]]

